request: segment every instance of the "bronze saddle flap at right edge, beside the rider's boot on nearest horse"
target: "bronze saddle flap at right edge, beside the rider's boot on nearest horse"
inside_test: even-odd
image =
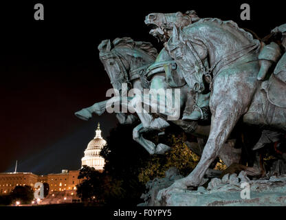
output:
[[[286,108],[286,53],[278,61],[274,73],[265,86],[268,100],[277,107]]]

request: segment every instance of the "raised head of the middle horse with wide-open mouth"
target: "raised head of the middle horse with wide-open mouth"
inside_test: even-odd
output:
[[[145,23],[151,26],[151,35],[155,36],[162,42],[168,41],[172,35],[173,25],[177,27],[185,27],[198,21],[199,17],[194,10],[187,11],[185,14],[181,12],[163,14],[151,13],[145,18]]]

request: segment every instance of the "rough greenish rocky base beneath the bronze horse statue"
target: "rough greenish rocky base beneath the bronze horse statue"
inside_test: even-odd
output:
[[[276,162],[276,168],[284,166],[284,161]],[[277,174],[272,171],[267,177],[252,180],[245,171],[239,175],[226,174],[222,179],[212,178],[207,188],[174,189],[158,200],[159,190],[181,178],[176,168],[172,168],[166,172],[166,177],[146,184],[149,191],[142,195],[145,202],[138,206],[285,206],[286,175]]]

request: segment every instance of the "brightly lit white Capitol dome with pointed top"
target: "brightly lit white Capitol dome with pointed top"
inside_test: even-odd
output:
[[[101,137],[100,124],[98,122],[98,129],[96,129],[96,136],[87,144],[85,149],[85,156],[81,159],[82,167],[87,165],[94,167],[96,170],[103,170],[104,158],[100,157],[99,153],[107,142]]]

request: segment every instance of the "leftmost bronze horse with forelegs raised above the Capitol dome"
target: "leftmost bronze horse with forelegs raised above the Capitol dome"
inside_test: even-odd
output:
[[[107,72],[111,85],[115,91],[118,91],[116,96],[109,100],[97,102],[91,107],[87,107],[80,111],[77,111],[75,115],[83,120],[88,120],[92,117],[92,113],[101,115],[108,108],[111,108],[113,104],[120,106],[124,109],[133,109],[129,102],[132,97],[126,97],[126,101],[122,101],[122,96],[127,96],[129,89],[134,89],[143,93],[144,87],[142,86],[142,73],[154,63],[157,57],[157,50],[151,43],[142,41],[133,41],[129,37],[122,39],[115,39],[112,43],[109,40],[104,40],[98,45],[100,51],[100,61],[104,65],[104,69]],[[128,88],[122,89],[122,84],[128,85]],[[133,109],[133,111],[135,111]],[[153,119],[150,113],[146,111],[137,111],[137,116],[141,121],[148,124],[138,124],[133,129],[133,139],[141,144],[148,153],[164,153],[169,149],[165,144],[157,144],[157,146],[146,140],[142,133],[150,130],[150,127],[155,130],[162,129],[169,126],[168,122],[162,120],[162,118]],[[138,120],[136,115],[127,114],[122,112],[116,112],[116,118],[118,118],[121,124],[133,124]]]

